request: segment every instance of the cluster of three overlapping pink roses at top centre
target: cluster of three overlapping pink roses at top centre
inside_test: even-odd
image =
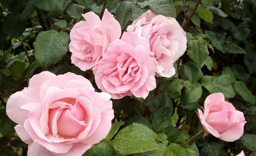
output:
[[[92,69],[99,89],[113,99],[146,98],[158,77],[175,74],[173,63],[187,48],[186,33],[172,17],[143,13],[121,36],[121,26],[106,9],[102,20],[83,14],[70,32],[71,60],[81,70]],[[119,39],[121,36],[121,39]]]

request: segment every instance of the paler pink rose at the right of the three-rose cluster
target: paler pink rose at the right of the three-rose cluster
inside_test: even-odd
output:
[[[149,39],[150,55],[158,62],[156,76],[169,78],[175,74],[173,63],[186,51],[187,37],[174,18],[148,10],[127,27],[127,32]]]

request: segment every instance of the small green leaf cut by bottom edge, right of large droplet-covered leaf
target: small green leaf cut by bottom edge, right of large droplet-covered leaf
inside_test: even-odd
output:
[[[170,143],[169,146],[166,147],[163,156],[186,156],[187,153],[183,147],[176,143]]]

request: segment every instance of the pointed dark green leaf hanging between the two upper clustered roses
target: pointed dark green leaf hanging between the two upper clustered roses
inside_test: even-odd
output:
[[[117,7],[115,19],[120,23],[122,30],[132,17],[132,6],[134,5],[135,2],[125,1],[121,2]]]

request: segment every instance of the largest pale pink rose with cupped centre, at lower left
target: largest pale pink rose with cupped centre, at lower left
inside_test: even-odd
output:
[[[73,73],[41,72],[7,101],[6,112],[28,156],[81,156],[104,139],[114,117],[111,96]]]

